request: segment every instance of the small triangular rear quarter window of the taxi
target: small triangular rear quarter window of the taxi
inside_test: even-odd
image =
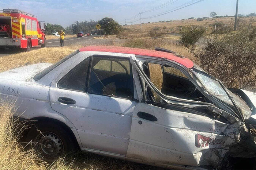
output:
[[[58,87],[85,92],[89,64],[90,58],[80,62],[59,81]]]

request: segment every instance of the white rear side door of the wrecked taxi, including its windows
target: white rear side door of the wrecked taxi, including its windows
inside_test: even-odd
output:
[[[50,103],[74,124],[83,148],[125,155],[136,105],[132,90],[128,59],[91,56],[56,77]]]

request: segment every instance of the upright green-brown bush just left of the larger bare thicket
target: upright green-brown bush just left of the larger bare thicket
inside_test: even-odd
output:
[[[204,35],[206,29],[200,26],[182,27],[179,43],[189,50],[195,50],[195,43]]]

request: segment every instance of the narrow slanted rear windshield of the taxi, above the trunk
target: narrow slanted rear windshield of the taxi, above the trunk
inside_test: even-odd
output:
[[[49,67],[47,67],[46,69],[44,69],[42,72],[39,72],[37,74],[35,74],[34,80],[40,80],[42,77],[44,77],[46,74],[48,74],[50,71],[52,71],[53,69],[55,69],[57,66],[59,66],[61,63],[63,63],[64,61],[66,61],[67,59],[73,57],[74,55],[76,55],[77,53],[79,53],[79,50],[76,50],[75,52],[67,55],[66,57],[64,57],[63,59],[61,59],[60,61],[54,63],[53,65],[50,65]]]

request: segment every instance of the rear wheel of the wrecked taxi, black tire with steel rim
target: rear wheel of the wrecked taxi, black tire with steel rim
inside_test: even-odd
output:
[[[39,158],[52,163],[61,155],[78,149],[73,136],[68,133],[67,128],[49,121],[33,125],[27,134],[26,142],[32,142],[32,146],[27,146],[33,147]]]

